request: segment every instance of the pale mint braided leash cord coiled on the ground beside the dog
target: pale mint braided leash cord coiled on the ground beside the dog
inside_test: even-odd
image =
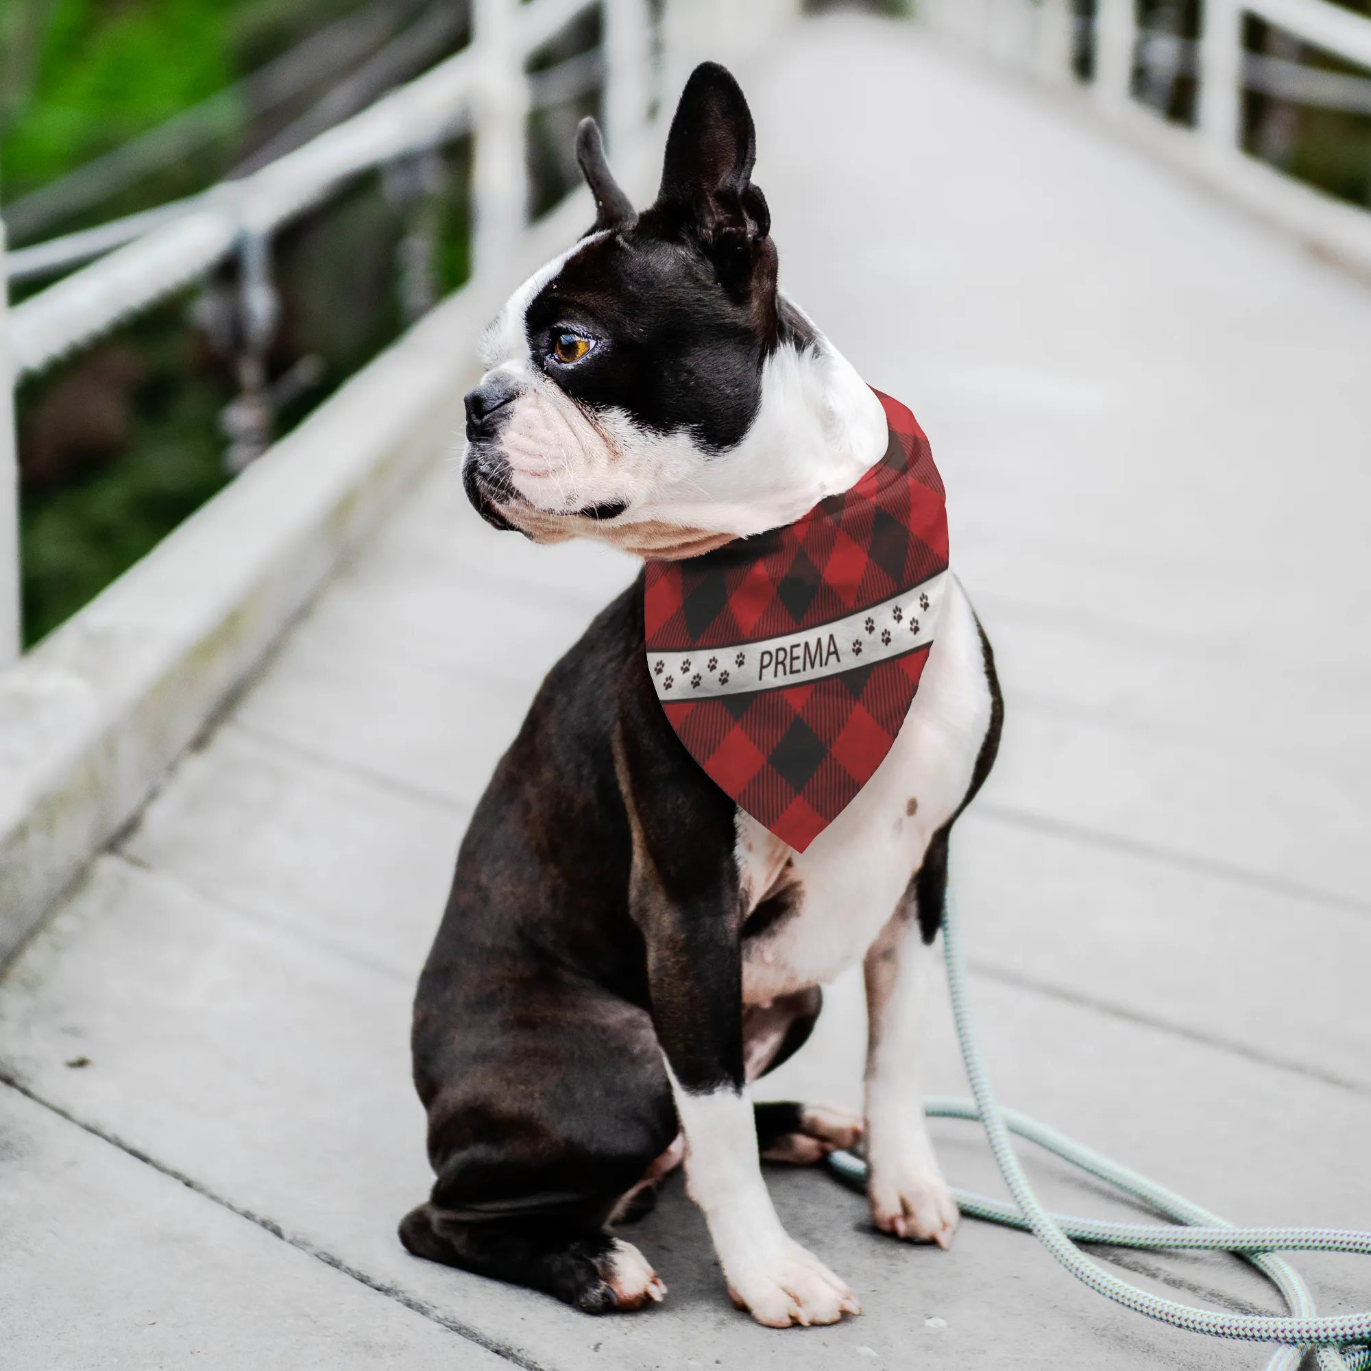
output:
[[[1185,1197],[1167,1190],[1165,1186],[1091,1152],[1065,1134],[1057,1132],[1056,1128],[1038,1123],[1027,1115],[1001,1109],[990,1086],[972,1019],[967,969],[962,961],[961,927],[951,891],[947,894],[943,941],[953,1017],[975,1104],[934,1098],[927,1101],[925,1113],[938,1119],[979,1119],[999,1174],[1015,1200],[1015,1205],[1009,1205],[967,1190],[953,1190],[962,1213],[1031,1231],[1078,1281],[1150,1319],[1217,1338],[1282,1344],[1267,1364],[1267,1371],[1294,1371],[1308,1348],[1316,1350],[1320,1371],[1366,1371],[1371,1367],[1371,1348],[1353,1346],[1371,1342],[1371,1311],[1319,1318],[1313,1297],[1300,1275],[1289,1263],[1271,1256],[1274,1252],[1352,1252],[1371,1256],[1371,1233],[1341,1228],[1235,1228]],[[1157,1213],[1174,1219],[1175,1224],[1113,1223],[1049,1213],[1024,1175],[1010,1142],[1012,1132],[1038,1143],[1130,1198],[1149,1205]],[[828,1161],[840,1179],[856,1189],[865,1189],[865,1161],[849,1152],[835,1152]],[[1073,1245],[1072,1238],[1126,1248],[1186,1248],[1237,1253],[1271,1281],[1290,1315],[1276,1318],[1215,1313],[1174,1300],[1163,1300],[1102,1271]]]

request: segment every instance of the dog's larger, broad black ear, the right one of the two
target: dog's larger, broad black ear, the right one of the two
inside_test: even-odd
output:
[[[771,232],[766,197],[751,184],[757,130],[742,88],[717,62],[702,62],[686,82],[657,203],[694,228],[723,276],[750,271]]]

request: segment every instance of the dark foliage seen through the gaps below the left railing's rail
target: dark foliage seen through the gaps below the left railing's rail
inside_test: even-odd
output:
[[[470,262],[470,140],[447,151],[447,186],[432,213],[437,228],[437,287],[462,285]],[[324,383],[277,414],[276,433],[300,420],[365,366],[403,329],[395,254],[404,214],[387,203],[380,178],[347,192],[285,228],[274,247],[282,326],[273,373],[296,358],[325,363]],[[21,491],[21,565],[25,640],[32,644],[151,551],[229,480],[218,415],[234,385],[186,324],[191,295],[140,315],[100,347],[136,356],[138,380],[126,387],[128,429],[118,451],[56,480],[27,480]],[[21,461],[32,457],[36,418],[53,400],[78,399],[74,358],[25,385],[19,395]]]

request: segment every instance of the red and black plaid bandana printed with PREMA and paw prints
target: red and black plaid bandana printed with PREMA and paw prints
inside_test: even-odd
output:
[[[888,395],[890,446],[786,528],[647,563],[647,666],[690,754],[797,851],[884,761],[947,577],[928,439]]]

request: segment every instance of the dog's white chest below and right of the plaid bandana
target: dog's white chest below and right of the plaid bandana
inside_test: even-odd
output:
[[[829,982],[895,912],[934,834],[961,805],[990,727],[975,616],[953,580],[919,694],[857,798],[797,853],[743,810],[735,849],[750,924],[743,1001]]]

